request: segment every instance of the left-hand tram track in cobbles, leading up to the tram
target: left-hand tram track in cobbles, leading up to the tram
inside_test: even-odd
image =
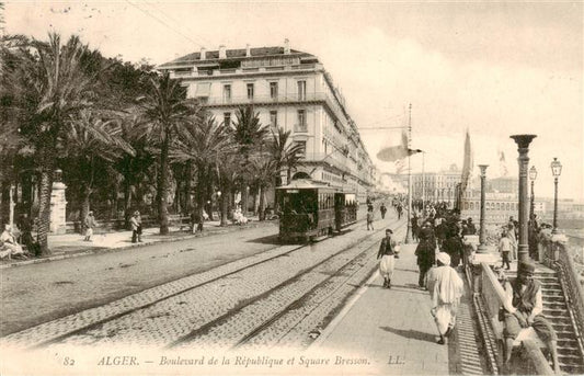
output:
[[[359,228],[363,226],[359,225],[359,223],[357,223],[357,225],[353,225],[352,227]],[[364,238],[371,236],[373,233]],[[362,240],[363,238],[357,239],[348,247],[352,247]],[[101,307],[69,315],[65,318],[42,323],[39,326],[7,335],[2,338],[1,341],[16,345],[25,344],[27,347],[43,347],[56,343],[65,343],[68,342],[70,338],[98,330],[108,322],[122,320],[129,316],[136,315],[137,312],[151,309],[158,305],[164,304],[164,301],[180,298],[181,296],[192,293],[197,288],[201,289],[205,286],[217,284],[220,281],[234,277],[238,275],[238,273],[249,271],[253,267],[257,267],[277,259],[290,257],[294,252],[306,248],[307,244],[276,247],[253,257],[224,264],[208,272],[194,274],[170,282],[162,286],[167,286],[167,288],[163,288],[161,292],[156,290],[157,288],[161,287],[157,286],[145,292],[133,294],[131,296],[112,301]],[[137,296],[139,296],[139,298]]]

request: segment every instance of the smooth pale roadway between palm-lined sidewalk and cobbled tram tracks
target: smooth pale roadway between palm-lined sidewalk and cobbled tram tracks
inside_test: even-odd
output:
[[[276,247],[277,224],[2,270],[0,335]]]

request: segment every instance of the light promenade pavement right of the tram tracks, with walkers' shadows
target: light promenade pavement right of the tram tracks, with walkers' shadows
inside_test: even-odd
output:
[[[430,294],[417,288],[415,247],[402,246],[391,289],[381,287],[376,272],[311,350],[327,349],[334,358],[366,358],[368,366],[358,374],[448,375],[456,369],[449,364],[458,363],[453,356],[449,362],[456,346],[436,343]]]

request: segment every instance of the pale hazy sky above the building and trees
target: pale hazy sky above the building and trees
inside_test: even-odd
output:
[[[412,147],[425,171],[462,166],[517,175],[511,135],[535,134],[536,196],[584,200],[582,1],[8,1],[5,32],[78,34],[105,56],[162,64],[198,52],[282,46],[319,57],[341,89],[380,172],[412,104]],[[502,158],[504,157],[504,162]],[[414,172],[422,156],[412,157]]]

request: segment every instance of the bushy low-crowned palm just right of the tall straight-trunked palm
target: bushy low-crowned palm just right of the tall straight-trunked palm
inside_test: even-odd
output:
[[[229,130],[217,124],[214,117],[192,118],[176,137],[172,158],[176,161],[192,161],[196,169],[196,210],[199,218],[203,218],[206,192],[213,182],[214,171],[217,166],[225,164],[226,157],[236,150],[237,146]]]

